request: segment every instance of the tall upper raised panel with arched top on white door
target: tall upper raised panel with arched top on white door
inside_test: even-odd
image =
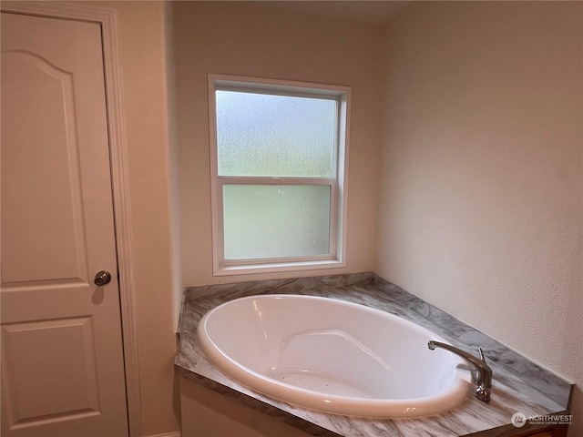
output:
[[[73,76],[2,54],[2,280],[88,281]],[[34,124],[34,128],[23,125]],[[26,126],[28,127],[28,126]]]

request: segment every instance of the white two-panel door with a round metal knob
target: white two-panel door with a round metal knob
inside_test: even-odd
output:
[[[1,25],[1,433],[127,436],[100,25]]]

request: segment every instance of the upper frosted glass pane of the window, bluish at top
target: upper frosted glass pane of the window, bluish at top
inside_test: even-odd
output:
[[[333,177],[336,100],[215,96],[219,176]]]

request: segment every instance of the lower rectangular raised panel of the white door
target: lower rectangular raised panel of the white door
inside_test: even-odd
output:
[[[2,361],[12,429],[99,414],[91,318],[5,324]],[[37,371],[42,363],[45,371]],[[39,393],[43,393],[42,396]]]

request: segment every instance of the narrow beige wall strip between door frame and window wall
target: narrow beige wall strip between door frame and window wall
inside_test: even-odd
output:
[[[169,120],[162,2],[115,8],[123,86],[143,435],[179,430],[173,360],[176,268],[170,228]]]

